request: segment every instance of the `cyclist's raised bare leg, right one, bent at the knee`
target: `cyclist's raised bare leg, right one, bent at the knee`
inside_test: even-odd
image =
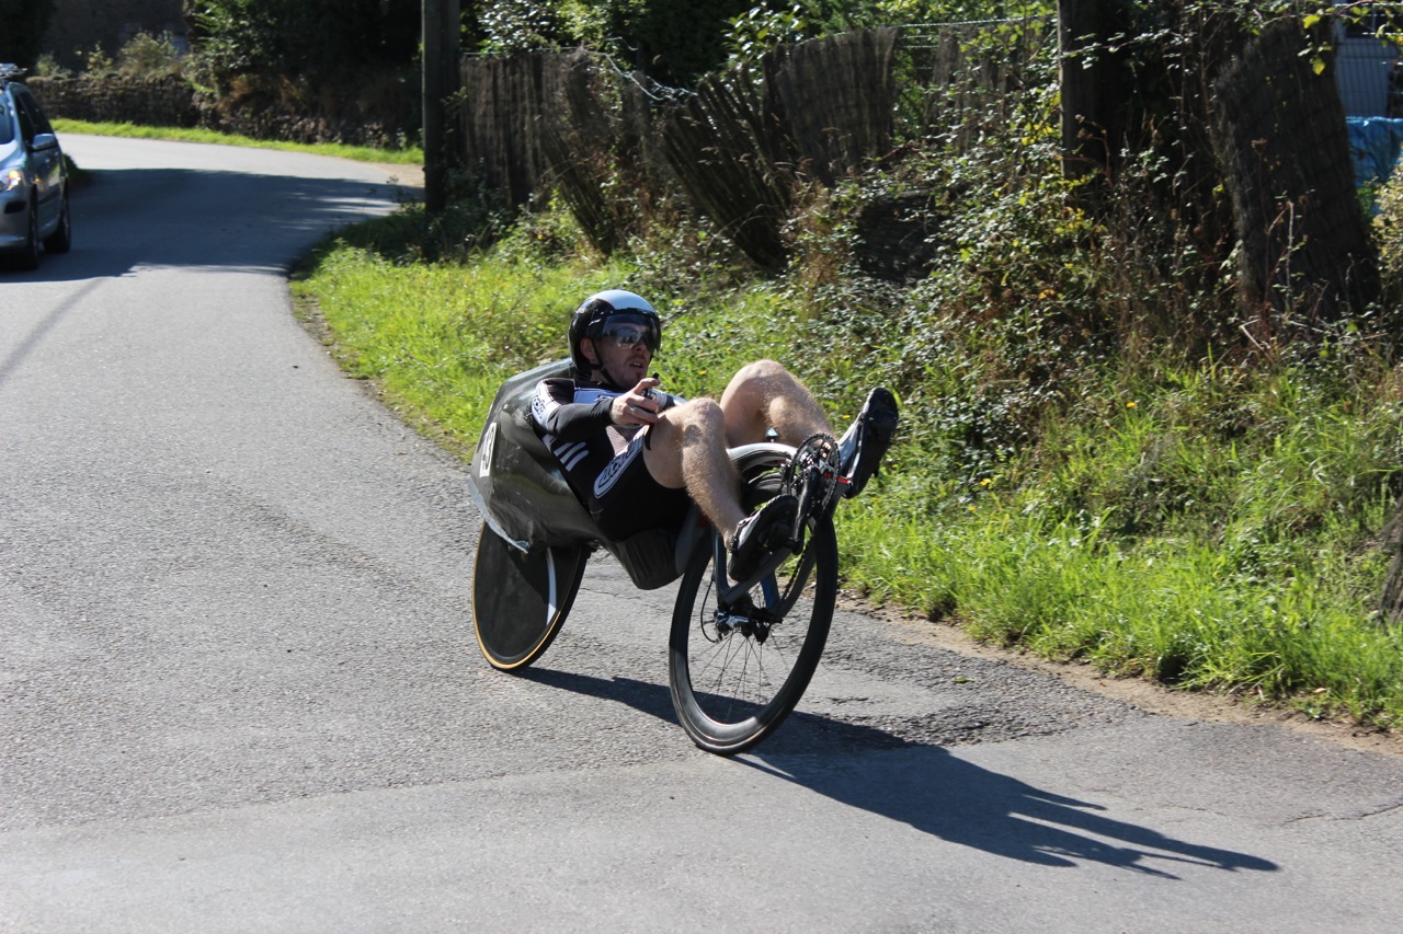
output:
[[[742,366],[721,394],[721,411],[732,447],[765,440],[770,428],[786,445],[833,431],[808,387],[774,360]]]

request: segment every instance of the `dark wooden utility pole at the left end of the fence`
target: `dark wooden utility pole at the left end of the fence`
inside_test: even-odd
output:
[[[424,0],[424,208],[448,205],[448,175],[457,164],[456,118],[450,98],[462,84],[459,0]]]

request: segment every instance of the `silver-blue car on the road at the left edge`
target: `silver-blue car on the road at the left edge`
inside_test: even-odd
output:
[[[73,223],[59,137],[20,74],[0,65],[0,257],[34,269],[42,251],[69,251]]]

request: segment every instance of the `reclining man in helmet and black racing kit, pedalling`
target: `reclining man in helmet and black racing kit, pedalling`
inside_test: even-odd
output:
[[[605,536],[675,529],[694,501],[725,536],[728,574],[745,581],[788,537],[798,503],[780,495],[746,515],[727,447],[770,429],[787,445],[832,429],[812,393],[773,360],[741,367],[720,402],[668,395],[648,374],[661,345],[662,321],[643,297],[612,289],[585,299],[570,321],[574,376],[536,387],[536,431]],[[863,489],[895,429],[895,398],[874,388],[839,442],[845,495]]]

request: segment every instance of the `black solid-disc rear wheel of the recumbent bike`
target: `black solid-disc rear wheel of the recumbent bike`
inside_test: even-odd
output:
[[[492,668],[519,672],[550,648],[588,558],[584,546],[522,553],[483,524],[473,562],[473,630]]]

